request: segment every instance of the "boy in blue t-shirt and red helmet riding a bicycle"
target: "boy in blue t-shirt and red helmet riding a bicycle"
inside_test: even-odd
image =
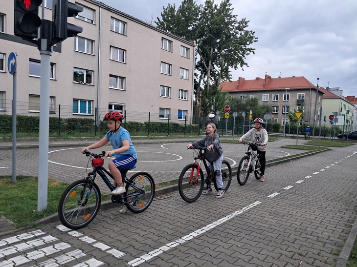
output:
[[[115,154],[115,159],[109,164],[109,171],[112,173],[116,188],[112,191],[113,195],[120,195],[125,193],[125,187],[122,179],[122,170],[128,170],[136,164],[137,154],[130,138],[129,132],[121,127],[124,115],[118,111],[110,111],[105,116],[103,121],[108,121],[109,131],[100,141],[83,147],[81,152],[85,150],[102,147],[109,141],[112,144],[113,150],[107,151],[105,157],[112,157]]]

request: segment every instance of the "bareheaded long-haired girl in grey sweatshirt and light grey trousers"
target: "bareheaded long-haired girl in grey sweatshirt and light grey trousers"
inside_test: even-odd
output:
[[[215,170],[215,178],[217,182],[218,192],[216,198],[221,198],[224,194],[224,185],[222,181],[221,166],[223,162],[223,149],[221,147],[221,139],[217,133],[217,127],[214,123],[208,123],[206,127],[207,135],[201,140],[190,143],[187,145],[187,148],[191,146],[205,146],[208,151],[216,149],[216,152],[219,155],[219,158],[213,161],[213,169]],[[208,167],[212,170],[212,164],[207,161]],[[207,183],[207,182],[206,182]],[[212,192],[211,184],[207,184],[206,188],[203,189],[202,194],[207,195]]]

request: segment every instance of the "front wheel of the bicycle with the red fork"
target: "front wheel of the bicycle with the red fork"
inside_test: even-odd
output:
[[[179,178],[179,193],[181,198],[188,203],[195,202],[201,196],[203,186],[204,176],[202,169],[198,173],[197,164],[192,163],[185,166]]]

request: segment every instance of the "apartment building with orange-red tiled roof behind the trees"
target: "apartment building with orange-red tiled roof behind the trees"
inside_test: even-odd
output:
[[[222,82],[222,91],[228,92],[230,96],[238,97],[241,100],[246,98],[257,98],[261,104],[272,106],[271,115],[274,116],[275,123],[284,125],[287,123],[289,111],[294,112],[304,104],[305,117],[303,120],[313,123],[315,114],[318,120],[319,108],[322,106],[323,92],[317,90],[304,77],[255,78],[255,80],[245,80],[242,77],[238,81]]]

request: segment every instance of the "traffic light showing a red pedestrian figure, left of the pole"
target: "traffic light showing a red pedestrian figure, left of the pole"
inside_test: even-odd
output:
[[[42,0],[14,0],[14,34],[24,39],[38,38]]]

